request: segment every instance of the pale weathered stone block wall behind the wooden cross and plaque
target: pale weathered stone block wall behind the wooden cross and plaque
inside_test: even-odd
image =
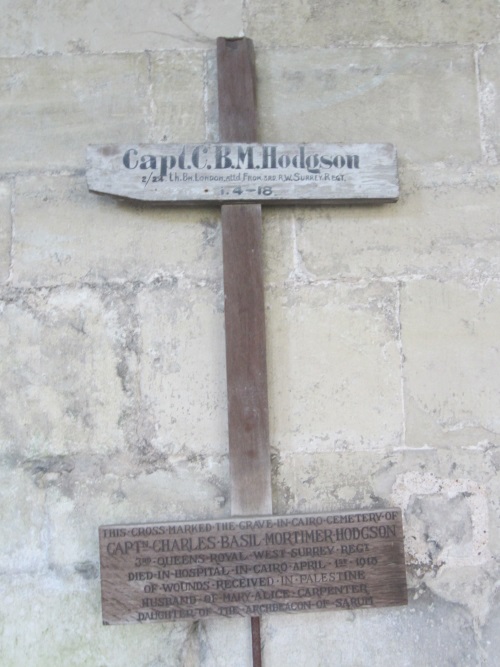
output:
[[[401,198],[264,210],[275,513],[404,510],[410,602],[263,619],[265,667],[500,651],[497,0],[1,0],[3,667],[248,667],[247,619],[101,625],[100,524],[230,514],[216,208],[87,191],[89,143],[391,142]]]

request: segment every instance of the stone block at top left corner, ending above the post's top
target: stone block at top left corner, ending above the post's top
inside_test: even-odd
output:
[[[219,35],[241,31],[234,0],[30,0],[4,2],[0,55],[153,51],[206,47]]]

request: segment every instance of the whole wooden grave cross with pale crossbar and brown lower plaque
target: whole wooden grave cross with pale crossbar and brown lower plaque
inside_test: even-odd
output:
[[[221,206],[232,517],[100,528],[103,620],[252,618],[407,601],[400,510],[273,517],[261,204],[393,202],[390,144],[257,144],[251,40],[217,40],[219,143],[90,146],[89,189]]]

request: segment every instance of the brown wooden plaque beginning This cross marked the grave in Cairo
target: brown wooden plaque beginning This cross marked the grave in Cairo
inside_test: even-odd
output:
[[[407,603],[401,511],[99,529],[105,624]]]

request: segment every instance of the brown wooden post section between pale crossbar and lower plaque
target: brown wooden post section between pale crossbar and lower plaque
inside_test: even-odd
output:
[[[222,207],[231,512],[272,512],[260,206]]]

